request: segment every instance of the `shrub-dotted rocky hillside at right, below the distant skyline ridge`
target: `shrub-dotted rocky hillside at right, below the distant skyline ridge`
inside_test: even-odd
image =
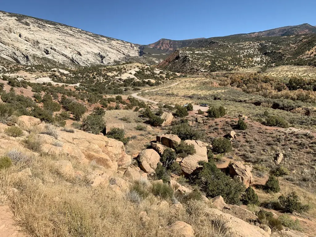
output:
[[[316,65],[316,35],[230,36],[205,46],[177,49],[159,66],[181,73],[238,70],[255,66]]]

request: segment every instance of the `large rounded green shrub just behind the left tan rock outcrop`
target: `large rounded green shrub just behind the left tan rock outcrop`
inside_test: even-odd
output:
[[[99,134],[105,127],[106,124],[103,117],[92,113],[82,120],[81,130],[88,133]]]

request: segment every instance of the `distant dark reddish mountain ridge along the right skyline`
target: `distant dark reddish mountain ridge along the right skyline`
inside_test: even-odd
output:
[[[191,39],[191,40],[168,40],[161,39],[155,43],[149,44],[148,47],[154,48],[158,51],[163,52],[174,52],[176,49],[184,48],[184,47],[207,47],[214,40],[223,40],[226,38],[251,38],[251,37],[259,37],[259,36],[289,36],[289,35],[301,35],[301,34],[316,34],[316,27],[309,25],[307,23],[297,25],[297,26],[286,26],[279,27],[275,29],[254,32],[254,33],[246,33],[246,34],[235,34],[223,37],[213,37],[213,38],[199,38],[199,39]]]

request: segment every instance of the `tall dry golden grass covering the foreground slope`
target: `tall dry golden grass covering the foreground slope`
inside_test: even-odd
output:
[[[177,237],[180,235],[168,228],[177,220],[191,224],[198,237],[225,236],[223,223],[199,215],[203,212],[201,208],[194,214],[191,209],[191,215],[185,209],[173,212],[169,208],[171,201],[162,205],[153,195],[134,204],[125,197],[125,190],[113,191],[112,185],[91,187],[84,179],[70,179],[66,185],[52,167],[52,160],[56,159],[65,158],[47,155],[35,158],[32,177],[28,179],[10,179],[10,173],[19,171],[16,166],[0,172],[0,193],[4,194],[1,197],[8,197],[13,186],[18,190],[10,199],[1,201],[12,203],[18,224],[32,236]],[[90,165],[72,163],[75,170],[91,171]],[[142,211],[149,218],[142,218],[139,215]]]

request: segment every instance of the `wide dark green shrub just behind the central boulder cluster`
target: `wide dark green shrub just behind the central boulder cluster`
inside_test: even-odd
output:
[[[170,133],[178,135],[181,140],[201,140],[204,137],[203,131],[190,127],[188,123],[173,125]]]

